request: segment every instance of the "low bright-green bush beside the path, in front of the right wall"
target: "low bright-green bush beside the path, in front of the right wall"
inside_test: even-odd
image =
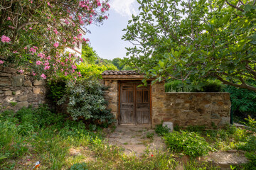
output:
[[[196,132],[174,131],[166,133],[164,140],[172,151],[183,152],[191,157],[206,155],[211,150],[208,142]]]

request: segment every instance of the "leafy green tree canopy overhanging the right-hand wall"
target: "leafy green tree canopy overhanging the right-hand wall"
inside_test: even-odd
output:
[[[256,1],[137,0],[124,62],[155,81],[201,81],[256,91]]]

